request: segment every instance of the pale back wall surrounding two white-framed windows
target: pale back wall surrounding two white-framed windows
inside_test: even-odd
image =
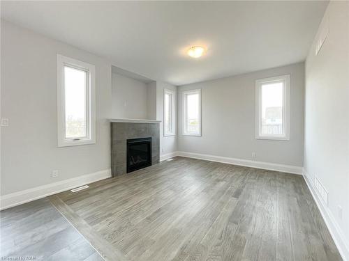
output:
[[[290,141],[257,140],[255,80],[283,74],[291,74]],[[202,136],[183,136],[181,92],[198,88]],[[304,63],[179,86],[178,99],[179,151],[303,166]]]

